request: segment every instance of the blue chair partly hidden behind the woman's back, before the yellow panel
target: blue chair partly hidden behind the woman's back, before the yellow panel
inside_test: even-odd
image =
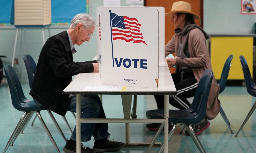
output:
[[[220,87],[220,92],[219,93],[222,93],[226,87],[226,83],[227,83],[227,79],[228,79],[228,73],[229,73],[229,70],[230,70],[230,67],[231,67],[231,60],[233,59],[233,55],[229,55],[229,57],[227,58],[224,66],[223,66],[223,69],[222,69],[222,73],[221,73],[221,77],[220,77],[220,80],[218,82],[218,86]],[[223,118],[223,120],[226,122],[226,124],[228,125],[228,128],[231,132],[231,134],[233,134],[233,131],[230,127],[230,122],[224,112],[224,110],[222,109],[222,107],[220,106],[220,114]]]

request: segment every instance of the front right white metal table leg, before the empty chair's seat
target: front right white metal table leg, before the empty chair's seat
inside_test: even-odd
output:
[[[168,152],[169,95],[164,95],[164,153]]]

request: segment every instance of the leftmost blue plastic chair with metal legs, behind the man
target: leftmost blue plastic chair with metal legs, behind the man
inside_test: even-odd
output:
[[[35,101],[29,100],[24,96],[22,86],[20,84],[18,76],[11,65],[6,65],[4,67],[4,72],[6,74],[6,78],[8,81],[8,86],[10,89],[13,107],[19,111],[24,111],[24,113],[23,113],[22,117],[20,118],[15,130],[13,131],[13,134],[11,135],[3,153],[6,152],[6,150],[8,149],[8,147],[10,146],[11,143],[12,144],[14,143],[14,141],[18,137],[20,131],[27,124],[27,122],[29,121],[29,119],[31,118],[32,114],[35,111],[37,113],[37,116],[38,116],[42,126],[44,127],[46,133],[48,134],[52,144],[54,145],[56,150],[58,152],[60,152],[57,144],[55,143],[50,131],[48,130],[47,126],[45,125],[45,122],[42,119],[41,114],[40,114],[40,110],[47,110],[47,108],[45,108],[43,106],[38,106],[35,103]],[[48,110],[48,113],[51,116],[54,123],[57,123],[55,118],[52,116],[51,111]],[[59,126],[57,126],[57,128],[59,130]]]

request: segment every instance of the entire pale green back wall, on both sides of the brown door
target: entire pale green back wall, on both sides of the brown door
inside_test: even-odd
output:
[[[204,0],[205,31],[209,34],[254,33],[256,15],[241,15],[240,3],[241,1],[237,0]],[[96,8],[98,6],[103,6],[103,0],[92,1],[92,17],[94,20],[96,20]],[[121,6],[129,6],[129,4],[126,4],[126,0],[121,0]],[[64,30],[67,30],[67,28],[51,29],[51,35]],[[7,56],[7,58],[2,58],[4,65],[11,64],[15,34],[16,29],[0,29],[0,55]],[[23,44],[25,45],[23,46],[21,46],[22,36],[24,37],[24,30],[23,32],[20,30],[18,34],[15,58],[18,58],[19,63],[14,66],[14,69],[22,81],[28,81],[22,56],[30,54],[37,63],[43,46],[42,31],[40,29],[27,29],[26,40],[23,39]],[[48,31],[45,29],[46,40],[48,37]],[[78,52],[73,55],[74,61],[91,60],[96,55],[96,30],[89,43],[85,42],[81,46],[75,45],[75,47]]]

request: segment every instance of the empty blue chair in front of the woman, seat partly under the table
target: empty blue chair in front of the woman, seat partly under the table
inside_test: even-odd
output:
[[[170,139],[170,137],[172,136],[177,123],[184,124],[190,136],[192,137],[194,143],[200,150],[200,152],[205,152],[204,148],[202,147],[200,141],[198,140],[190,124],[197,124],[205,118],[207,101],[208,101],[212,78],[213,78],[213,72],[210,70],[205,70],[204,74],[202,75],[198,83],[198,87],[196,89],[196,93],[191,106],[188,109],[184,109],[184,110],[169,110],[169,123],[172,122],[173,126],[172,126],[172,130],[169,132],[168,139]],[[146,112],[146,117],[150,119],[163,119],[164,110],[163,109],[148,110]],[[163,125],[164,123],[162,123],[160,128],[158,129],[147,152],[150,151],[153,144],[155,143],[157,136],[159,135],[160,131],[163,129]],[[163,145],[159,150],[159,152],[162,152],[162,150],[163,150]]]

